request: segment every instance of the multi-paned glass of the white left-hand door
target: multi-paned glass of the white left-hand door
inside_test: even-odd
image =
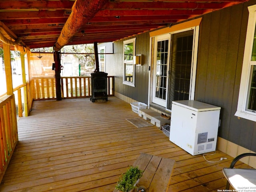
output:
[[[163,100],[166,100],[168,43],[169,40],[157,42],[155,96]]]

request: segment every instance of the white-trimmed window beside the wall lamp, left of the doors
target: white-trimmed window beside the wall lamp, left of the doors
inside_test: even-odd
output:
[[[136,38],[124,41],[123,84],[133,87],[135,87],[135,65],[133,64],[133,56],[135,55],[135,41]]]

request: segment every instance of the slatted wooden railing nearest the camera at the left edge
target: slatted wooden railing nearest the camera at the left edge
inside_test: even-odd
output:
[[[13,95],[0,99],[0,181],[18,142],[15,101]]]

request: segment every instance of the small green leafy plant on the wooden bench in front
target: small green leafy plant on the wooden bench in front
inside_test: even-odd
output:
[[[135,184],[139,178],[141,178],[143,171],[138,168],[138,166],[130,168],[126,171],[126,173],[122,174],[117,182],[116,189],[128,192],[134,188],[136,188]]]

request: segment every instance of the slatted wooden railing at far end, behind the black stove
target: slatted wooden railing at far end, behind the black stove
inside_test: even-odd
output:
[[[33,78],[34,100],[56,98],[55,78]],[[89,76],[61,77],[62,98],[88,98],[91,96]],[[108,76],[108,96],[114,96],[114,76]]]

